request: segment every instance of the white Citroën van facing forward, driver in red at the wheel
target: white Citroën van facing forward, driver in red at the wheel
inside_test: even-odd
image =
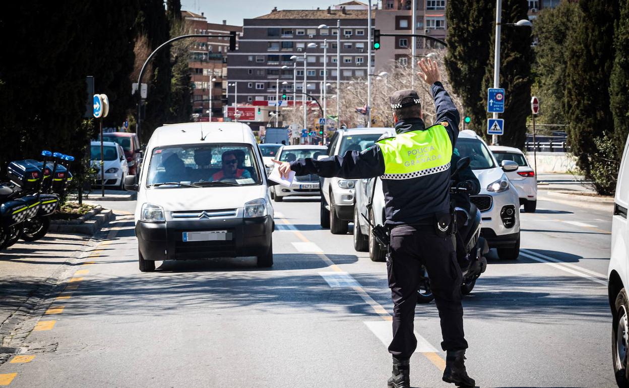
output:
[[[140,271],[155,260],[257,257],[273,265],[269,185],[250,128],[242,123],[184,123],[157,128],[138,184],[135,235]]]

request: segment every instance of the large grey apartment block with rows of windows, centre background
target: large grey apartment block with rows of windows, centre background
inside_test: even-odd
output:
[[[234,85],[229,89],[230,105],[235,102],[237,94],[238,106],[242,104],[275,106],[277,85],[279,94],[282,89],[286,89],[289,100],[281,106],[293,106],[293,87],[296,92],[305,90],[319,99],[324,64],[327,70],[326,82],[331,84],[327,90],[333,91],[337,80],[339,32],[341,82],[348,82],[355,77],[366,77],[369,71],[367,5],[358,1],[345,4],[347,8],[343,4],[328,9],[312,10],[274,8],[268,14],[244,19],[243,35],[238,50],[228,55],[229,82]],[[337,21],[340,23],[340,31],[337,28]],[[318,28],[320,25],[327,25],[329,28]],[[324,40],[328,43],[326,57],[323,55]],[[316,47],[308,47],[309,43],[314,43]],[[374,53],[371,63],[372,65],[374,63]],[[293,82],[294,77],[296,82]],[[286,84],[282,84],[283,82]],[[293,85],[294,83],[296,85]],[[301,99],[302,95],[296,94],[297,104]],[[328,100],[328,106],[332,105]],[[270,113],[274,109],[266,110]],[[268,119],[268,116],[261,116],[257,123],[250,124],[265,125]]]

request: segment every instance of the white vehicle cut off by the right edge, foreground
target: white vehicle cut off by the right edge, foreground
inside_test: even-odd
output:
[[[629,140],[628,140],[629,141]],[[618,387],[629,386],[629,155],[627,144],[618,171],[614,215],[611,221],[611,257],[608,269],[608,296],[611,307],[611,357]]]

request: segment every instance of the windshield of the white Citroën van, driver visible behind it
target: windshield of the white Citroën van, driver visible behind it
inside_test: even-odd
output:
[[[248,186],[262,182],[245,144],[189,144],[153,149],[147,186]]]

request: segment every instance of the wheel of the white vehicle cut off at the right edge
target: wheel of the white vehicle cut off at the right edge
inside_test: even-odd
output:
[[[618,387],[629,386],[629,304],[625,289],[616,296],[613,324],[611,326],[611,357]]]

